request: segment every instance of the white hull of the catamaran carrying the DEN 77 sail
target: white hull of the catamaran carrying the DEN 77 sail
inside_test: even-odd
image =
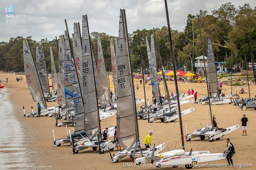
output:
[[[159,154],[160,152],[162,152],[162,150],[164,149],[165,147],[165,144],[162,143],[158,146],[155,147],[155,152],[154,152],[154,155],[156,154]],[[116,154],[113,155],[113,158],[112,158],[112,162],[115,163],[115,162],[118,162],[119,160],[123,159],[124,157],[126,156],[132,156],[132,151],[127,151],[127,150],[122,150]],[[145,156],[145,155],[152,155],[152,152],[153,152],[153,148],[142,148],[141,151],[140,150],[136,150],[135,152],[135,157],[136,156]]]

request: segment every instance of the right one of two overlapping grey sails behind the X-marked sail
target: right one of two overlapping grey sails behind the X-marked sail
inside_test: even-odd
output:
[[[44,58],[44,47],[40,47],[39,50],[39,80],[42,85],[44,97],[48,97],[50,95],[49,81],[46,70],[45,58]]]

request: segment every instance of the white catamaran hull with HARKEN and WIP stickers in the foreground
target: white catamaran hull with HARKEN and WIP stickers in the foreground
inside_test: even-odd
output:
[[[172,158],[158,159],[154,162],[156,167],[161,166],[177,166],[185,165],[188,169],[193,167],[193,164],[211,162],[216,160],[226,159],[225,153],[210,153],[210,154],[200,154],[200,155],[185,155],[177,156]]]

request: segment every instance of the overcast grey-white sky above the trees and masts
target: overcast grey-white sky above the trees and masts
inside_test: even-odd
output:
[[[169,0],[168,10],[172,29],[183,31],[188,14],[195,15],[199,10],[211,11],[221,4],[232,2],[238,6],[250,3],[254,8],[255,0]],[[7,24],[5,6],[13,5],[15,14],[25,14],[24,24]],[[125,9],[128,32],[137,29],[152,29],[166,26],[164,1],[162,0],[1,0],[0,1],[0,41],[9,41],[11,37],[32,35],[40,41],[43,38],[53,40],[64,34],[64,19],[67,19],[69,33],[73,33],[73,23],[82,22],[87,14],[90,32],[105,32],[118,36],[120,8]],[[9,18],[10,19],[10,18]]]

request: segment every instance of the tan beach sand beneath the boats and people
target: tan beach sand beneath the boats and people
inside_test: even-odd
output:
[[[36,110],[36,102],[32,100],[32,96],[28,90],[26,84],[25,75],[23,81],[16,82],[16,77],[21,75],[14,75],[13,73],[0,73],[0,79],[2,80],[1,84],[6,85],[4,88],[8,94],[9,100],[15,106],[15,115],[17,119],[22,124],[24,129],[24,143],[20,144],[20,147],[23,148],[26,152],[26,158],[23,164],[27,165],[27,168],[24,169],[156,169],[156,167],[124,167],[124,163],[132,163],[129,157],[120,160],[119,163],[112,163],[109,153],[99,154],[98,151],[92,151],[91,148],[79,152],[79,154],[73,154],[72,147],[63,145],[60,147],[53,145],[53,136],[52,129],[55,131],[56,139],[66,137],[66,128],[65,127],[55,127],[56,120],[54,117],[24,117],[22,106],[25,107],[25,111],[31,112],[31,106]],[[9,78],[9,82],[5,82],[5,78]],[[51,80],[50,80],[51,81]],[[50,82],[51,84],[51,82]],[[139,84],[139,92],[135,89],[136,96],[139,99],[144,99],[143,85],[140,85],[139,79],[134,79],[135,87]],[[113,85],[113,82],[110,78],[110,85]],[[167,82],[169,92],[175,91],[174,82]],[[205,83],[182,83],[178,82],[179,91],[185,93],[188,89],[193,88],[195,92],[198,92],[198,99],[206,96],[207,88]],[[239,92],[241,86],[233,87],[233,93]],[[255,84],[250,86],[251,95],[254,96],[256,93]],[[161,82],[160,85],[161,92],[164,93],[164,85]],[[248,86],[244,86],[246,92],[248,92]],[[114,92],[114,88],[113,90]],[[223,92],[230,94],[231,86],[223,85]],[[0,90],[1,92],[1,90]],[[240,97],[249,97],[249,94],[241,94]],[[152,87],[146,85],[146,99],[152,101]],[[1,99],[0,99],[1,100]],[[47,102],[48,107],[57,106],[57,102]],[[0,106],[1,107],[1,106]],[[183,123],[183,133],[193,132],[195,129],[200,129],[206,127],[206,125],[211,124],[211,117],[209,112],[209,105],[201,105],[189,103],[186,105],[181,105],[181,110],[194,107],[195,111],[190,114],[182,117]],[[1,107],[0,109],[5,109]],[[138,108],[139,109],[139,105]],[[211,153],[222,153],[226,149],[226,138],[230,138],[230,142],[234,144],[236,154],[233,157],[233,162],[237,164],[252,164],[253,167],[248,167],[245,169],[255,169],[256,166],[256,111],[255,110],[246,110],[241,111],[240,108],[235,107],[230,104],[225,105],[215,105],[212,106],[212,113],[215,114],[218,127],[228,128],[233,125],[241,126],[241,118],[243,114],[246,114],[249,122],[247,123],[248,136],[242,136],[242,128],[232,132],[229,135],[220,138],[219,141],[214,140],[214,142],[209,142],[206,139],[201,141],[200,138],[194,138],[190,142],[185,141],[186,151],[189,151],[193,148],[194,151],[197,150],[208,150]],[[179,120],[176,122],[163,123],[160,120],[148,123],[147,120],[138,120],[139,122],[139,133],[140,141],[142,146],[144,145],[145,136],[148,134],[149,130],[153,131],[151,144],[161,144],[165,143],[171,150],[172,149],[181,149],[181,137],[180,137],[180,124]],[[116,126],[116,116],[108,117],[101,121],[101,128],[113,127]],[[68,129],[73,131],[72,126],[68,126]],[[10,134],[11,135],[11,134]],[[2,137],[2,136],[1,136]],[[185,137],[184,137],[185,138]],[[15,142],[15,141],[10,141]],[[8,147],[4,147],[7,151],[12,152],[11,149],[8,151]],[[0,148],[1,152],[3,147]],[[114,149],[116,150],[116,148]],[[167,151],[165,148],[164,151]],[[15,151],[14,151],[15,152]],[[116,151],[113,151],[114,154]],[[220,163],[226,164],[227,160],[214,161],[210,163]],[[15,161],[10,161],[5,163],[6,166],[17,165]],[[30,166],[30,167],[29,167]],[[39,167],[40,166],[40,167]],[[51,166],[51,167],[46,167]],[[165,167],[166,169],[170,167]],[[165,169],[162,167],[161,169]],[[229,168],[229,167],[227,167]],[[17,169],[15,167],[6,167],[6,169]],[[185,169],[185,167],[178,167],[176,169]],[[198,167],[193,167],[193,169],[199,169]],[[218,167],[204,167],[200,169],[223,169]],[[238,167],[232,167],[229,169],[239,169]]]

